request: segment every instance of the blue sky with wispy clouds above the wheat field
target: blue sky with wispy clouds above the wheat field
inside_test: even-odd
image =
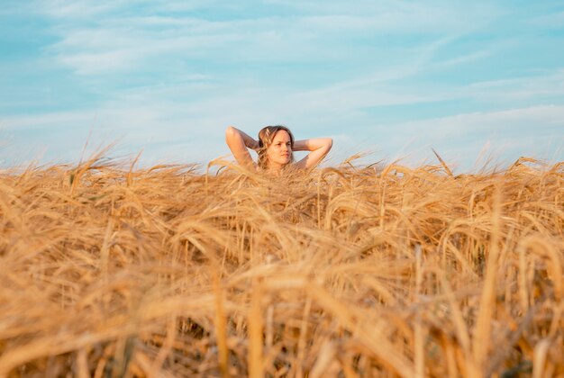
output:
[[[564,160],[561,1],[16,1],[0,9],[0,165],[229,153],[232,124],[331,136],[327,164]],[[90,135],[90,136],[89,136]]]

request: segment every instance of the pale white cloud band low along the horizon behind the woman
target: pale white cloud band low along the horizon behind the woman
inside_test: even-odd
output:
[[[359,93],[351,91],[349,95],[355,94]],[[298,139],[332,136],[335,139],[332,164],[355,153],[373,152],[364,160],[392,161],[407,157],[406,164],[418,165],[425,159],[433,161],[431,148],[436,148],[449,164],[458,164],[464,171],[472,166],[487,143],[493,146],[487,150],[505,162],[522,155],[564,159],[561,146],[564,105],[461,113],[377,126],[374,120],[355,112],[353,101],[344,103],[341,109],[328,109],[331,103],[318,106],[291,94],[283,95],[282,100],[277,108],[268,99],[261,99],[259,93],[249,92],[188,104],[106,105],[96,114],[61,112],[12,117],[2,123],[8,135],[17,137],[28,130],[26,143],[32,146],[30,150],[43,150],[46,158],[63,160],[80,156],[92,129],[91,146],[119,140],[116,149],[119,154],[134,154],[143,148],[143,161],[147,164],[166,160],[205,163],[229,153],[223,142],[227,125],[235,124],[255,135],[264,124],[273,122],[287,123]],[[288,114],[287,109],[300,112],[299,103],[303,107],[301,113]],[[369,121],[373,126],[362,126],[361,122],[368,125]],[[312,124],[317,128],[312,129]],[[18,155],[14,149],[8,152],[11,157]],[[0,158],[6,159],[5,154],[6,151]]]

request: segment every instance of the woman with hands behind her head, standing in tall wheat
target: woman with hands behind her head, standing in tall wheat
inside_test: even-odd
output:
[[[280,125],[267,126],[260,130],[259,140],[252,139],[243,131],[229,126],[225,130],[225,141],[241,166],[259,168],[277,175],[287,166],[295,166],[300,169],[316,166],[332,147],[331,138],[294,140],[292,131]],[[252,161],[247,148],[257,151],[258,163]],[[311,152],[294,163],[294,151]]]

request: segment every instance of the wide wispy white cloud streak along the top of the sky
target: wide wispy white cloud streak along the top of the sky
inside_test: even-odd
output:
[[[346,62],[349,54],[366,53],[351,43],[355,38],[419,33],[435,40],[429,42],[427,38],[408,49],[395,50],[388,46],[387,57],[378,57],[375,63],[378,68],[389,69],[396,61],[414,60],[417,50],[432,53],[433,49],[441,49],[465,32],[488,23],[496,14],[494,10],[485,13],[481,9],[478,13],[472,6],[441,3],[425,6],[408,2],[378,5],[361,2],[355,6],[309,3],[305,8],[311,8],[312,12],[302,12],[303,5],[286,4],[297,8],[297,13],[287,16],[265,13],[250,19],[211,21],[186,14],[153,12],[161,5],[169,11],[167,6],[179,6],[179,2],[176,5],[145,2],[142,3],[145,8],[141,6],[137,14],[126,12],[130,4],[125,0],[101,3],[50,0],[41,4],[41,9],[58,21],[53,32],[60,40],[49,51],[61,65],[78,75],[97,75],[131,72],[142,67],[154,69],[153,59],[174,57],[187,61],[232,59],[265,64]],[[209,10],[214,5],[190,2],[186,6]],[[251,8],[252,3],[241,6]],[[374,54],[377,48],[369,48],[372,51],[368,53]]]

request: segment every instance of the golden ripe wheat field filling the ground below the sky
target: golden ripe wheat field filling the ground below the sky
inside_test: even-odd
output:
[[[0,175],[0,377],[564,376],[564,163]]]

